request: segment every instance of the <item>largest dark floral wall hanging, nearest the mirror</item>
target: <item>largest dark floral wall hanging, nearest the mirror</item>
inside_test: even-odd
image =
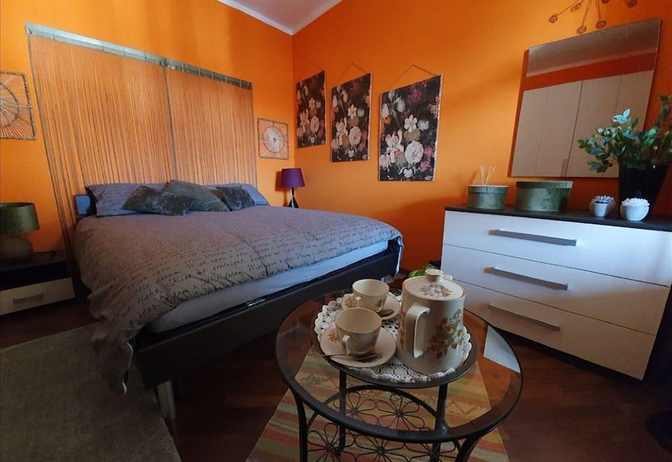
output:
[[[381,95],[381,181],[434,179],[440,97],[441,76]]]

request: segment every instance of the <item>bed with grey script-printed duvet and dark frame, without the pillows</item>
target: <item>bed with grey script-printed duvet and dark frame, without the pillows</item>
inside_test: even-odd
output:
[[[172,381],[272,332],[298,304],[398,270],[402,240],[369,218],[287,207],[99,218],[76,196],[76,259],[109,387],[132,358],[174,416]]]

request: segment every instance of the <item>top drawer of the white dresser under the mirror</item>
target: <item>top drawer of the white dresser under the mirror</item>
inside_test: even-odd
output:
[[[446,211],[443,243],[670,286],[672,233]]]

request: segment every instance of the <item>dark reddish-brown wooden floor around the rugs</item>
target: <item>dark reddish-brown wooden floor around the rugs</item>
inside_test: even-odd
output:
[[[73,300],[2,316],[0,344],[90,323],[85,306]],[[635,379],[509,339],[524,373],[521,400],[500,426],[511,461],[672,461],[645,428],[671,402]],[[273,349],[267,335],[185,381],[169,423],[183,461],[246,459],[286,391]]]

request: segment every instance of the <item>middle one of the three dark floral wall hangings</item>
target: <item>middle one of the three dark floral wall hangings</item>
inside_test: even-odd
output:
[[[331,160],[369,158],[371,74],[331,89]]]

